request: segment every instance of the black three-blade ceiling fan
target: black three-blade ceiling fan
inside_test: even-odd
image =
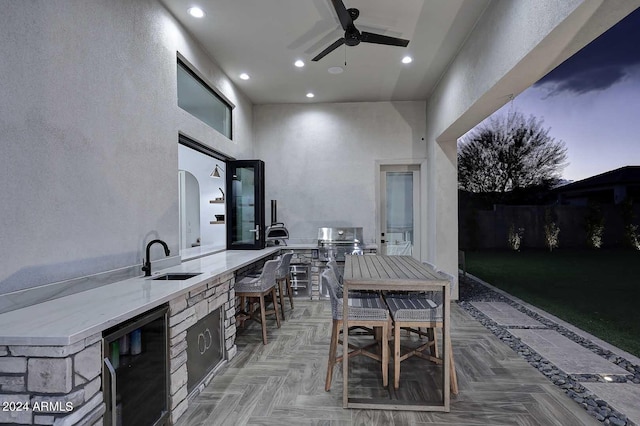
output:
[[[355,25],[353,25],[353,21],[358,19],[358,16],[360,16],[360,11],[355,8],[347,9],[344,6],[342,0],[331,0],[331,3],[333,3],[333,7],[336,9],[336,14],[338,15],[338,19],[340,20],[342,29],[344,29],[344,37],[339,38],[329,47],[318,53],[316,57],[312,59],[312,61],[319,61],[343,44],[346,44],[347,46],[357,46],[360,44],[360,42],[365,42],[401,47],[407,47],[409,45],[409,40],[405,40],[402,38],[368,33],[366,31],[358,31]]]

